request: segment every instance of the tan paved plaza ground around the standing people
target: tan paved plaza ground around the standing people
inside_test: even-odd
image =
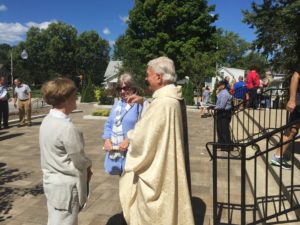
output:
[[[80,225],[118,225],[121,220],[119,178],[105,174],[101,134],[104,120],[84,120],[94,109],[92,104],[79,104],[79,113],[71,115],[85,137],[86,154],[93,160],[94,176],[91,197],[79,214]],[[44,225],[47,221],[46,199],[42,189],[38,131],[42,118],[32,127],[0,131],[0,224]],[[211,162],[205,144],[212,140],[212,118],[201,118],[188,110],[192,203],[197,225],[212,224]],[[145,129],[147,129],[145,127]],[[151,132],[151,131],[149,131]]]

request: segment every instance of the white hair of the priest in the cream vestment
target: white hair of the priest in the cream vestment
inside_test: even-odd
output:
[[[172,59],[162,56],[149,61],[148,66],[151,67],[155,73],[162,74],[165,83],[176,82],[177,75]]]

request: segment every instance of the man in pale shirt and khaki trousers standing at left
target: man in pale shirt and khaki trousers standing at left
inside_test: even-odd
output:
[[[16,85],[14,91],[14,106],[17,107],[18,99],[18,109],[20,125],[24,126],[26,124],[25,115],[27,115],[27,125],[31,126],[31,89],[27,84],[23,84],[19,78],[14,80]]]

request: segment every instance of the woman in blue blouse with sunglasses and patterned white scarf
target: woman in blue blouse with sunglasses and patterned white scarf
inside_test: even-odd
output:
[[[136,93],[137,89],[132,76],[122,74],[118,81],[120,98],[115,101],[109,118],[104,125],[103,149],[105,156],[105,171],[112,175],[120,175],[125,166],[126,152],[129,146],[127,133],[133,129],[141,116],[143,106],[134,103],[128,104],[129,96]]]

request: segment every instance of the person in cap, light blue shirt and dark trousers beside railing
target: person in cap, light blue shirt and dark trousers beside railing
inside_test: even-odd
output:
[[[217,134],[218,142],[222,144],[230,144],[230,121],[231,121],[231,109],[232,109],[232,95],[229,94],[226,88],[226,82],[220,81],[218,84],[217,103],[215,107],[216,119],[217,119]],[[222,148],[224,150],[228,147]]]

